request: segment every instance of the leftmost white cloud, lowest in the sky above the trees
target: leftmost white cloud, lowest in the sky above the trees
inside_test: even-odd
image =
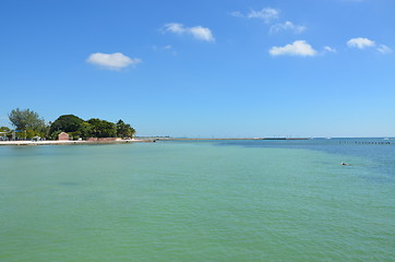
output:
[[[109,70],[120,70],[131,64],[137,64],[141,62],[139,58],[132,59],[130,57],[124,56],[122,52],[115,52],[115,53],[95,52],[92,53],[86,61],[88,63],[100,66]]]

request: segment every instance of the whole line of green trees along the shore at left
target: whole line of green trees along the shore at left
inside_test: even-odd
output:
[[[14,129],[0,128],[0,136],[12,139],[47,139],[57,140],[61,132],[67,132],[72,140],[88,138],[133,138],[135,129],[121,119],[113,123],[98,118],[83,120],[74,115],[60,116],[53,122],[46,123],[37,112],[31,109],[13,109],[9,114]]]

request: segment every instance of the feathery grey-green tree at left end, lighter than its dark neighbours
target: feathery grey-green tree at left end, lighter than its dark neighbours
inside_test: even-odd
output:
[[[32,130],[39,131],[45,128],[45,121],[38,116],[37,112],[31,109],[21,110],[20,108],[13,109],[9,114],[9,119],[17,130]]]

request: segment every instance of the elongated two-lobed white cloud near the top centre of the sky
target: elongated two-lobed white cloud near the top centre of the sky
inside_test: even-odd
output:
[[[212,31],[200,25],[187,27],[180,23],[168,23],[164,25],[164,32],[170,32],[179,35],[189,34],[199,40],[215,41]]]

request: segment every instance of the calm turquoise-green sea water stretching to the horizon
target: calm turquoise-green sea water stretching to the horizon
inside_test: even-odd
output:
[[[351,142],[1,146],[0,261],[394,261],[395,145]]]

